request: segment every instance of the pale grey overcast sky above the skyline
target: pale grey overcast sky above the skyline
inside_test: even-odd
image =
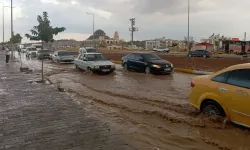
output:
[[[10,0],[0,1],[2,6],[10,5]],[[244,32],[250,34],[249,0],[190,1],[190,35],[197,41],[213,33],[240,39]],[[95,28],[110,37],[118,31],[121,39],[130,40],[132,17],[139,28],[136,40],[163,36],[182,40],[187,35],[188,0],[13,0],[13,3],[14,31],[22,36],[37,25],[37,15],[43,11],[49,13],[52,26],[67,29],[56,39],[86,39],[92,33],[92,17],[86,12],[95,14]],[[5,8],[5,37],[10,37],[9,8]]]

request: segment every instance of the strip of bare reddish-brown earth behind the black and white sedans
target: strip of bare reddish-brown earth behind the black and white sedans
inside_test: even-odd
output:
[[[131,50],[105,50],[98,49],[102,52],[105,57],[110,60],[120,62],[123,56],[128,55]],[[78,51],[72,51],[75,55],[78,54]],[[152,51],[140,51],[140,52],[152,52]],[[154,52],[152,52],[154,53]],[[188,58],[184,52],[171,52],[171,53],[156,53],[165,60],[170,61],[174,64],[176,68],[184,69],[194,69],[200,71],[211,71],[215,72],[231,65],[241,64],[241,63],[250,63],[250,55],[248,58],[243,58],[240,55],[214,55],[212,58]],[[219,57],[219,58],[218,58]]]

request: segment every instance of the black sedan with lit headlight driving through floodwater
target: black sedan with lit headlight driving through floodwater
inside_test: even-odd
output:
[[[172,63],[153,53],[131,53],[122,58],[122,66],[146,74],[171,74],[174,70]]]

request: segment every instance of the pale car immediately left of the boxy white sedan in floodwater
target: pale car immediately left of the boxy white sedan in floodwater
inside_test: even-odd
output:
[[[57,63],[74,63],[75,57],[69,51],[55,51],[52,55],[52,61]]]

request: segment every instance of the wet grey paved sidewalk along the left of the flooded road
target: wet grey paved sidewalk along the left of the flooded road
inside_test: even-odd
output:
[[[132,143],[0,51],[0,150],[130,150]]]

